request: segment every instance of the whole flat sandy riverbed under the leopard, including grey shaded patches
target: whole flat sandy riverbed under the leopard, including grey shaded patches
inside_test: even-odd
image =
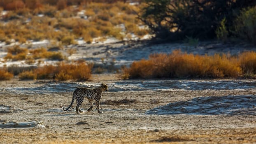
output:
[[[139,80],[123,81],[114,74],[93,77],[85,83],[1,81],[0,143],[256,142],[254,80],[164,80],[158,87],[154,80],[142,80],[141,85],[136,85]],[[95,107],[84,114],[76,114],[75,109],[61,111],[62,106],[70,105],[75,86],[94,88],[103,81],[109,84],[109,92],[102,96],[103,114],[98,114]],[[196,84],[202,86],[191,88]],[[218,88],[211,88],[211,85]],[[195,98],[199,98],[198,101]],[[221,105],[223,98],[233,107]],[[232,98],[240,100],[240,104],[242,101],[242,104],[230,101]],[[201,107],[203,104],[206,106],[204,109]],[[175,109],[175,105],[180,108]],[[212,107],[207,111],[209,105],[215,105],[216,109],[221,106],[223,114],[209,112]],[[188,106],[199,112],[189,113]],[[87,107],[85,100],[82,108]],[[159,110],[165,113],[158,113]],[[179,111],[179,114],[172,111]]]

